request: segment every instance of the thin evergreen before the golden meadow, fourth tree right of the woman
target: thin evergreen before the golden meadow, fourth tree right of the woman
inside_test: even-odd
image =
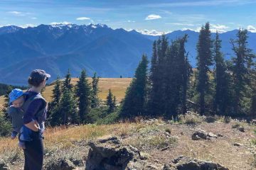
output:
[[[99,93],[99,89],[98,89],[99,79],[100,79],[100,77],[96,77],[96,73],[93,74],[93,77],[92,77],[92,102],[91,102],[92,108],[97,108],[100,104],[100,99],[97,96],[97,94]]]

